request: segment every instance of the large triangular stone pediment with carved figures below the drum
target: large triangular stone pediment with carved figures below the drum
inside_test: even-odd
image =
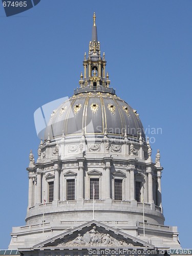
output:
[[[34,249],[67,248],[152,248],[140,239],[130,236],[118,229],[109,227],[95,220],[59,234],[49,240],[35,245]]]

